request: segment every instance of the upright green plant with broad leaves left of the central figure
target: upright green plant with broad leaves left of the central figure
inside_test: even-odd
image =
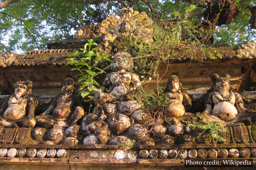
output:
[[[95,76],[105,73],[105,71],[104,69],[97,67],[99,61],[106,59],[112,62],[105,53],[96,54],[94,52],[99,48],[97,43],[93,42],[92,39],[89,39],[88,43],[84,45],[84,48],[80,49],[82,52],[75,51],[74,54],[70,55],[74,56],[74,58],[66,59],[68,60],[66,65],[75,66],[75,68],[72,68],[71,70],[78,70],[80,72],[80,74],[76,76],[79,77],[78,82],[82,82],[79,92],[83,99],[93,99],[94,91],[97,90],[97,87],[100,87],[99,83],[95,80]]]

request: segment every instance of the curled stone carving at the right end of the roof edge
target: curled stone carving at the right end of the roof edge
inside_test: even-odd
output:
[[[242,44],[241,47],[236,51],[237,58],[248,58],[253,59],[256,58],[256,44],[247,41],[246,43]]]

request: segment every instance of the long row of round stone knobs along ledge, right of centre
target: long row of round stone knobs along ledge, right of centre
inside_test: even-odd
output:
[[[190,149],[190,150],[186,150],[186,149],[180,149],[180,150],[175,150],[175,149],[171,149],[169,151],[167,150],[155,150],[155,149],[151,149],[150,151],[147,150],[141,150],[140,153],[140,158],[167,158],[169,156],[169,158],[206,158],[208,156],[208,158],[227,158],[228,156],[231,158],[238,158],[239,155],[242,158],[249,158],[250,155],[252,155],[253,157],[256,157],[256,148],[253,148],[250,152],[249,149],[247,148],[242,148],[239,151],[237,149],[209,149],[208,151],[206,149]]]

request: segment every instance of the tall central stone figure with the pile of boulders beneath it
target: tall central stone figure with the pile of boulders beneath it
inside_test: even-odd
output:
[[[112,72],[106,75],[102,88],[95,92],[93,113],[87,115],[82,121],[83,130],[87,135],[91,134],[84,139],[84,144],[106,144],[108,142],[120,145],[128,141],[127,137],[129,141],[146,137],[147,128],[144,125],[132,125],[134,119],[131,115],[142,106],[132,98],[142,87],[139,76],[127,71],[133,66],[133,62],[129,61],[129,56],[131,55],[126,52],[113,55],[114,63],[110,66]],[[135,117],[139,118],[145,114],[138,111],[136,115]],[[109,139],[110,131],[113,135],[119,136]],[[125,133],[127,137],[122,136]],[[99,134],[106,134],[106,136],[99,136]]]

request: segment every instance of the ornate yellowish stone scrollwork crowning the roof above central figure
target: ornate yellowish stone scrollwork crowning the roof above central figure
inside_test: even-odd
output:
[[[109,42],[113,42],[120,33],[142,38],[144,42],[153,41],[152,28],[148,28],[153,23],[146,12],[133,11],[132,8],[123,8],[117,13],[120,18],[111,13],[106,20],[99,25],[88,25],[81,27],[76,33],[76,39],[102,37],[105,47]],[[145,36],[147,35],[147,36]]]

